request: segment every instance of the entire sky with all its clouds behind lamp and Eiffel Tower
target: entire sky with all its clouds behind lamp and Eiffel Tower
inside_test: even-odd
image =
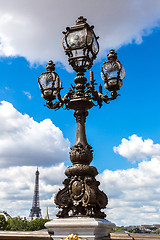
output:
[[[101,50],[92,68],[98,85],[103,85],[100,70],[110,48],[117,51],[126,71],[121,96],[100,110],[92,108],[86,123],[88,143],[94,150],[92,165],[97,167],[101,188],[110,201],[108,219],[117,225],[159,223],[159,1],[122,0],[119,4],[118,0],[102,0],[97,15],[97,1],[92,1],[91,9],[90,0],[87,4],[82,1],[79,8],[77,1],[71,0],[69,6],[63,0],[47,1],[45,4],[42,0],[38,7],[25,0],[23,4],[14,1],[14,6],[2,1],[0,10],[0,182],[4,184],[0,190],[1,210],[6,209],[11,215],[29,215],[34,173],[39,166],[43,215],[49,205],[51,216],[55,216],[53,197],[64,178],[65,167],[70,165],[68,151],[75,141],[76,123],[72,110],[55,112],[44,107],[37,79],[52,59],[63,83],[62,95],[68,91],[76,74],[68,67],[61,32],[84,15],[100,36]],[[68,8],[65,16],[61,4]],[[49,8],[53,5],[54,17]],[[43,11],[44,6],[48,14]],[[115,18],[110,21],[113,10]],[[11,183],[10,175],[15,178],[17,172],[17,181]],[[9,188],[6,194],[6,187],[11,184],[16,190]],[[129,193],[136,198],[130,199]]]

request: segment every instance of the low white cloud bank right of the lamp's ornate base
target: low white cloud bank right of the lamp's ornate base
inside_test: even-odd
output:
[[[160,157],[139,163],[138,168],[105,170],[98,176],[109,197],[108,219],[119,226],[160,222]]]

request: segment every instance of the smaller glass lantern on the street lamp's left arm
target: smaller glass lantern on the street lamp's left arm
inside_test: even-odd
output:
[[[62,85],[58,74],[54,71],[55,64],[52,60],[48,62],[46,70],[47,72],[42,73],[38,78],[38,84],[42,92],[42,97],[47,101],[53,101],[56,99]]]

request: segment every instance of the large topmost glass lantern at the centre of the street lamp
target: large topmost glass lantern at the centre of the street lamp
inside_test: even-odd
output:
[[[69,57],[69,63],[76,72],[85,72],[93,65],[99,51],[93,26],[89,26],[87,19],[82,16],[76,20],[76,25],[67,27],[62,44]]]

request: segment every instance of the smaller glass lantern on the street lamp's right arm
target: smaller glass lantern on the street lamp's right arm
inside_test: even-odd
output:
[[[117,53],[113,49],[110,50],[107,56],[108,61],[104,62],[101,69],[101,76],[105,82],[104,87],[109,91],[117,91],[123,85],[122,80],[125,77],[125,69],[117,59]]]

